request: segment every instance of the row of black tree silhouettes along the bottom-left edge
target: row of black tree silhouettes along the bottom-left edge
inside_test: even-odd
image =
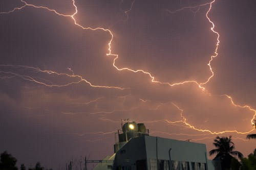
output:
[[[18,170],[16,166],[17,159],[14,158],[11,154],[8,154],[7,151],[1,154],[0,159],[0,170]],[[41,166],[40,162],[35,164],[35,167],[26,168],[24,164],[20,165],[20,170],[52,170],[52,168],[47,169]]]

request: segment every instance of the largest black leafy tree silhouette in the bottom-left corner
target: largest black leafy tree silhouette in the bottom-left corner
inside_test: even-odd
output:
[[[0,159],[0,169],[1,170],[18,170],[16,167],[17,159],[14,158],[11,154],[8,154],[7,151],[1,154]]]

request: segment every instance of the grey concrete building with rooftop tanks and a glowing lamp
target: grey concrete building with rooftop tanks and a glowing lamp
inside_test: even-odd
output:
[[[114,155],[94,170],[221,170],[218,161],[208,160],[205,144],[150,136],[135,122],[126,122],[117,135]]]

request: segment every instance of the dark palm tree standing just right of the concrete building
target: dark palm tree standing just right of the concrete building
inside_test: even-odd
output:
[[[216,149],[209,152],[210,155],[217,154],[214,159],[220,159],[222,169],[229,169],[231,159],[233,156],[237,156],[239,159],[243,157],[243,154],[234,150],[234,143],[231,141],[231,136],[229,137],[219,137],[217,136],[213,143]],[[233,156],[232,156],[233,155]]]

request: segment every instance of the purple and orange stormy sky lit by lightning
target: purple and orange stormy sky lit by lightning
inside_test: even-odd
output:
[[[113,154],[121,119],[150,135],[256,141],[256,6],[238,0],[0,2],[0,152],[65,168]],[[214,157],[209,157],[214,158]]]

